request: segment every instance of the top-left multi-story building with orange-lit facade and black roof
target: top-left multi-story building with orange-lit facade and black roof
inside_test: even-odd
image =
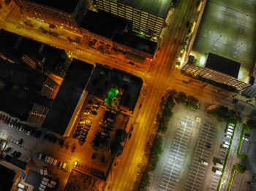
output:
[[[27,17],[79,33],[79,23],[90,6],[88,0],[14,0]]]

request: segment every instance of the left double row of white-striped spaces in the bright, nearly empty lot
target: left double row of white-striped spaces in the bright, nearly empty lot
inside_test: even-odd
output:
[[[180,121],[187,123],[187,125],[177,125],[160,177],[158,190],[176,190],[176,184],[181,176],[192,134],[192,123],[189,123],[192,122],[192,118],[183,116]]]

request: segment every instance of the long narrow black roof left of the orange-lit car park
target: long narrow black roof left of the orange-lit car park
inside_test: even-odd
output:
[[[93,66],[89,63],[73,59],[64,80],[50,108],[42,128],[64,135],[80,96],[91,76]]]

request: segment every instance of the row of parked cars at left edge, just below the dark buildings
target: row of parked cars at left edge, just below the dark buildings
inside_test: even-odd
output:
[[[40,138],[42,132],[40,130],[36,130],[36,128],[31,127],[30,125],[26,125],[20,122],[17,118],[10,117],[5,114],[0,114],[0,121],[4,122],[10,128],[14,128],[19,131],[25,132],[27,135],[33,135],[37,139]]]

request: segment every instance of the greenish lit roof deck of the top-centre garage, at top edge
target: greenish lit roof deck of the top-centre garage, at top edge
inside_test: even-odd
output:
[[[118,2],[165,18],[170,9],[171,0],[118,0]]]

